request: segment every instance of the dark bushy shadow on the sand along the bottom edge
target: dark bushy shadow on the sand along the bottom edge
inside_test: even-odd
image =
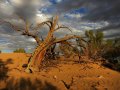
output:
[[[57,87],[48,82],[42,83],[38,79],[31,81],[30,78],[20,78],[19,80],[12,78],[3,90],[57,90]]]

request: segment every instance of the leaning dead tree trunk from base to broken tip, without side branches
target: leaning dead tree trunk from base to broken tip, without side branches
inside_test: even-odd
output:
[[[30,62],[28,64],[26,72],[39,70],[39,67],[41,65],[42,60],[45,57],[47,49],[52,45],[53,41],[55,40],[55,38],[53,37],[53,34],[54,34],[54,30],[57,24],[57,20],[58,20],[57,17],[55,18],[55,20],[53,20],[53,22],[51,23],[50,30],[45,40],[41,42],[41,44],[37,47],[34,54],[30,58]]]

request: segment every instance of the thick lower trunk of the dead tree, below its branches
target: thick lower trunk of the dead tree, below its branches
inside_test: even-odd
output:
[[[42,60],[45,58],[45,54],[47,49],[53,44],[53,42],[50,40],[48,43],[42,42],[34,51],[32,56],[29,59],[28,67],[26,69],[26,72],[36,72],[39,71],[39,68],[41,66]]]

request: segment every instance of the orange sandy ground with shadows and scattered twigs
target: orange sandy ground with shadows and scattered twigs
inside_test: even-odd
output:
[[[28,74],[29,54],[0,54],[0,90],[120,90],[120,73],[95,63],[60,63]]]

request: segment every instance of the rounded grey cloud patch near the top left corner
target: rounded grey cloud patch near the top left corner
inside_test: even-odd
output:
[[[9,4],[14,8],[14,14],[23,18],[25,21],[33,20],[37,13],[37,6],[33,5],[31,0],[21,0],[21,3],[9,0]]]

